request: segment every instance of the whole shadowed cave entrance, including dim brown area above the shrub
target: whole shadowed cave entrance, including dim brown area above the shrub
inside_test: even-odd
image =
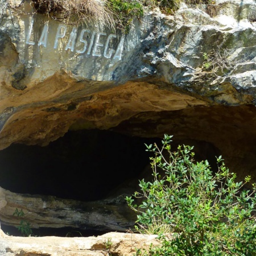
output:
[[[78,200],[79,204],[123,192],[131,195],[135,189],[124,184],[135,180],[138,185],[138,179],[148,174],[145,170],[150,170],[144,143],[160,145],[164,133],[174,135],[173,148],[178,144],[195,146],[196,160],[207,159],[213,170],[216,156],[222,155],[239,180],[251,175],[255,182],[255,112],[255,106],[212,106],[139,113],[112,131],[68,131],[46,147],[13,144],[0,151],[0,187],[15,193]],[[130,220],[129,214],[123,216]],[[58,234],[57,230],[47,230],[50,233],[39,235]],[[58,230],[59,236],[76,231],[86,235],[77,228]]]

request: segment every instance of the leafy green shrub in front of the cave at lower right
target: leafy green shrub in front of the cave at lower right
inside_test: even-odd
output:
[[[126,197],[138,213],[137,229],[159,234],[162,241],[137,255],[256,255],[255,184],[244,189],[250,176],[236,182],[221,156],[213,174],[207,160],[193,160],[193,147],[171,152],[171,138],[164,135],[161,148],[146,145],[155,153],[150,158],[153,179],[139,181],[141,192]],[[140,205],[135,204],[138,197]]]

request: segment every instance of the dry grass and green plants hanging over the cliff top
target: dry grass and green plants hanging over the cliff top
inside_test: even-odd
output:
[[[187,5],[207,4],[213,0],[32,0],[38,13],[46,14],[61,22],[81,24],[98,20],[106,26],[129,31],[131,21],[140,18],[145,9],[158,7],[163,13],[172,14],[181,2]]]

